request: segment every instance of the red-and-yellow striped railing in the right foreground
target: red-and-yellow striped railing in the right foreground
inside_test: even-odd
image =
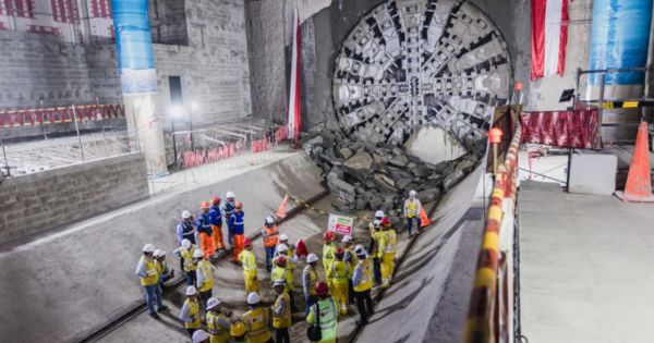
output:
[[[464,343],[513,342],[513,225],[521,134],[522,128],[517,125],[506,159],[495,175]]]

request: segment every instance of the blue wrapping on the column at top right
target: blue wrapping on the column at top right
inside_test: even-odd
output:
[[[647,62],[652,0],[594,0],[590,69],[643,68]],[[598,85],[601,74],[591,74]],[[606,74],[606,85],[640,85],[644,73]]]

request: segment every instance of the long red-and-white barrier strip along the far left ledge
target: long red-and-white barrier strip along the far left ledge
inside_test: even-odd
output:
[[[83,105],[47,109],[0,111],[0,128],[14,126],[45,125],[124,118],[125,108],[121,103]]]

